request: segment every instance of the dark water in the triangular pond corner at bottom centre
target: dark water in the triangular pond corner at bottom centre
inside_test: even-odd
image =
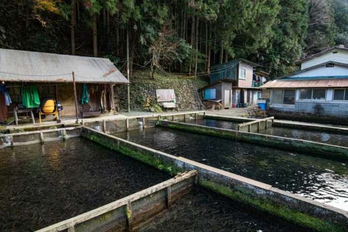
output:
[[[285,222],[249,206],[202,188],[176,202],[170,209],[140,228],[153,231],[312,231]]]

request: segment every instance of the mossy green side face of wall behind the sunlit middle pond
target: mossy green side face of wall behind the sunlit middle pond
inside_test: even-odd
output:
[[[179,124],[170,124],[170,123],[163,125],[161,122],[159,122],[157,123],[157,126],[164,126],[170,129],[194,132],[194,133],[203,134],[203,135],[242,140],[242,141],[255,143],[255,144],[261,144],[261,145],[267,144],[268,146],[273,146],[273,147],[289,148],[289,149],[298,150],[298,151],[307,151],[309,152],[309,154],[314,154],[316,156],[321,155],[321,156],[327,156],[330,158],[334,157],[339,159],[348,159],[348,149],[340,148],[340,147],[322,146],[318,144],[296,141],[296,140],[291,140],[290,142],[281,141],[277,139],[272,139],[272,137],[248,135],[245,133],[238,133],[235,131],[228,131],[223,129],[216,130],[214,128],[211,128],[211,129],[202,128],[196,125],[179,125]]]

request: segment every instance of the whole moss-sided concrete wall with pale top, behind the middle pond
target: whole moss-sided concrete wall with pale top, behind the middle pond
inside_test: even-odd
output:
[[[187,123],[160,121],[159,125],[166,128],[194,132],[204,135],[218,136],[222,138],[236,139],[260,144],[263,146],[272,146],[281,149],[286,148],[294,151],[307,152],[307,154],[316,156],[320,155],[329,158],[348,159],[348,147],[317,143],[301,139],[206,127]]]

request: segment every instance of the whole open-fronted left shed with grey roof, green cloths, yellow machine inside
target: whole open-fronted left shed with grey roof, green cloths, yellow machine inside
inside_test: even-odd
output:
[[[108,59],[0,49],[0,122],[114,112],[113,86],[128,83]]]

